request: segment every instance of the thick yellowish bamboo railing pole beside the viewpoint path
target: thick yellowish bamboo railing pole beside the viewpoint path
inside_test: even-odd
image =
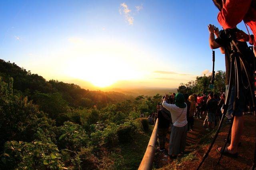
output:
[[[152,135],[148,142],[148,147],[146,149],[146,152],[143,156],[142,161],[140,162],[140,166],[138,170],[152,170],[153,160],[154,160],[155,150],[156,150],[155,144],[157,140],[157,129],[158,129],[158,119],[156,119],[154,130],[152,132]]]

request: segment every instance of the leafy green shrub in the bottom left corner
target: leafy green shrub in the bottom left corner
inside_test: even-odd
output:
[[[64,169],[56,145],[35,141],[33,143],[8,141],[1,155],[4,169]]]

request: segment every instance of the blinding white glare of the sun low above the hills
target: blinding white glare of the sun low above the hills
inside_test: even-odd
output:
[[[124,57],[116,51],[101,49],[85,51],[77,54],[68,63],[70,76],[92,83],[96,87],[105,88],[120,80],[138,78],[139,73]]]

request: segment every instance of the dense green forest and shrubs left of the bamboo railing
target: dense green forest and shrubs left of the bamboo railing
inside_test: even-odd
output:
[[[140,113],[160,98],[92,92],[0,61],[0,168],[121,168],[109,153],[148,130]]]

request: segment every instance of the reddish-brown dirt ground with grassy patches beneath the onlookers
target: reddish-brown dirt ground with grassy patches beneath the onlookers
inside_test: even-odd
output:
[[[154,167],[156,169],[196,169],[198,167],[204,153],[210,146],[209,141],[212,139],[208,139],[208,142],[206,141],[207,143],[202,143],[201,141],[202,137],[210,133],[206,131],[204,127],[202,127],[204,117],[205,116],[203,116],[202,119],[194,119],[194,129],[193,131],[188,132],[187,146],[184,156],[170,159],[167,156],[167,151],[156,151],[154,159]],[[224,146],[224,139],[228,134],[229,127],[230,124],[223,123],[218,138],[216,139],[208,158],[206,158],[200,169],[250,169],[254,158],[255,148],[255,116],[244,115],[244,133],[241,139],[242,145],[238,148],[238,158],[222,156],[220,164],[217,164],[220,154],[216,151],[216,148]],[[168,150],[170,133],[168,133],[166,138],[165,148]]]

